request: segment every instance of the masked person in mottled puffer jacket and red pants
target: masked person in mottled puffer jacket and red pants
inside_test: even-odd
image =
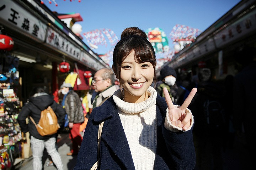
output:
[[[71,152],[67,153],[67,155],[77,155],[78,146],[81,146],[82,143],[82,136],[79,131],[80,125],[84,122],[82,103],[70,83],[63,83],[60,86],[60,90],[64,95],[62,106],[68,115],[69,138],[72,141]]]

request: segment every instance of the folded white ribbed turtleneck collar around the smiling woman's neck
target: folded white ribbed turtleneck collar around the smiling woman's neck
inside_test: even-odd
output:
[[[128,103],[123,101],[121,89],[114,92],[113,100],[116,103],[117,107],[124,113],[130,113],[130,114],[140,113],[150,108],[153,104],[156,103],[156,96],[157,96],[156,90],[153,87],[149,86],[147,91],[148,91],[149,98],[140,103]]]

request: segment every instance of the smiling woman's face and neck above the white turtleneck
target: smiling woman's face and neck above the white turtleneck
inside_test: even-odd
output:
[[[154,79],[154,67],[150,62],[137,63],[134,60],[134,51],[121,64],[119,76],[120,84],[124,89],[124,101],[139,103],[148,98],[146,90]]]

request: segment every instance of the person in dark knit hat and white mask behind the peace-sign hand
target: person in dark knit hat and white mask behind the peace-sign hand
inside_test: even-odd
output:
[[[177,74],[175,70],[169,66],[165,66],[160,71],[160,81],[156,83],[156,91],[158,92],[158,94],[164,97],[163,89],[164,87],[166,87],[172,99],[172,102],[175,103],[177,103],[178,100],[178,86],[176,85],[176,78]]]

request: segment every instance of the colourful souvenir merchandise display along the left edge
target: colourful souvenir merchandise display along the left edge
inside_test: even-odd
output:
[[[12,167],[21,158],[22,134],[17,122],[20,101],[13,89],[0,89],[0,170]]]

